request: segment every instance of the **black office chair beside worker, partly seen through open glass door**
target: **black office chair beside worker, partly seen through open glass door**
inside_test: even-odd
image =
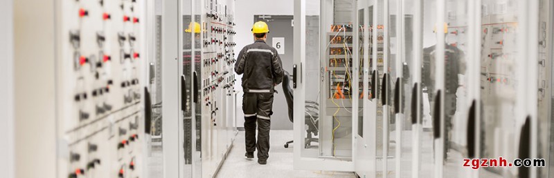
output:
[[[294,123],[293,111],[294,111],[294,93],[290,88],[290,75],[285,71],[285,77],[283,77],[283,93],[285,99],[287,99],[287,106],[289,107],[289,120]],[[317,136],[319,133],[319,103],[315,101],[305,102],[305,124],[308,126],[306,130],[306,138],[304,148],[308,148],[312,145],[312,142],[319,143],[318,138],[312,138],[312,133]],[[294,141],[287,141],[285,148],[289,148],[289,144]]]

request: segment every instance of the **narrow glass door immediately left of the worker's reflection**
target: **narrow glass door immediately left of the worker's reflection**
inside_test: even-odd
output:
[[[415,135],[415,123],[413,117],[416,116],[417,109],[413,108],[413,102],[417,100],[417,91],[414,91],[414,86],[417,80],[414,78],[416,75],[414,66],[415,57],[414,57],[414,1],[399,1],[399,13],[396,18],[396,24],[398,30],[397,33],[397,59],[400,60],[400,67],[397,70],[397,76],[400,76],[400,81],[397,80],[395,86],[399,87],[399,90],[395,91],[395,95],[399,95],[399,98],[395,97],[395,101],[400,100],[397,104],[395,102],[395,107],[399,106],[400,113],[397,113],[397,125],[396,128],[399,130],[397,135],[397,177],[413,177],[412,175],[412,161],[414,155],[417,155],[417,152],[414,152],[417,142],[413,139]],[[397,64],[398,65],[398,64]],[[399,74],[400,73],[400,74]],[[417,106],[415,106],[417,107]],[[417,118],[415,118],[417,119]],[[399,138],[400,137],[400,138]]]

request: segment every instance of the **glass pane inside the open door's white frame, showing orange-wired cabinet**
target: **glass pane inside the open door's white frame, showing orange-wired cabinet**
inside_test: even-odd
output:
[[[315,2],[307,2],[307,78],[317,76],[321,81],[317,85],[307,83],[306,91],[319,91],[318,95],[306,93],[305,129],[307,130],[307,149],[304,155],[316,154],[317,157],[326,159],[351,160],[352,157],[352,101],[357,99],[356,92],[352,91],[352,8],[355,1],[322,1],[325,3],[324,12],[333,12],[332,16],[323,16],[321,19],[321,54],[310,45],[314,39],[320,36],[312,36],[313,19],[309,10],[319,7]],[[313,6],[315,5],[315,6]],[[319,12],[319,10],[317,10]],[[313,38],[312,38],[313,37]],[[318,45],[314,45],[318,46]],[[317,52],[312,53],[312,52]],[[316,59],[314,57],[321,57]],[[310,66],[316,61],[319,64]],[[308,80],[308,82],[310,82]],[[358,83],[356,83],[358,84]],[[320,88],[313,88],[319,86]],[[315,103],[310,99],[315,98]],[[314,107],[315,106],[315,107]],[[319,109],[321,108],[321,110]],[[315,114],[317,113],[317,114]],[[319,119],[312,119],[317,116]],[[319,149],[310,146],[310,137],[317,136],[319,132]],[[314,142],[312,142],[313,144]],[[316,152],[313,152],[316,150]],[[310,152],[310,153],[309,153]],[[303,156],[304,156],[303,155]],[[307,155],[313,157],[314,155]]]

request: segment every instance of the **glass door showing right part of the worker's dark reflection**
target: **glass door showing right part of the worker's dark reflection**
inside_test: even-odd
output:
[[[470,71],[476,61],[470,61],[472,54],[469,43],[478,39],[470,32],[470,26],[477,26],[474,17],[468,14],[469,1],[446,1],[445,20],[445,83],[444,83],[444,174],[451,177],[469,177],[470,170],[463,168],[463,159],[474,157],[475,110],[474,88],[478,86],[470,80],[476,80]],[[473,12],[478,14],[478,12]],[[479,38],[479,37],[477,37]],[[472,51],[473,52],[473,51]],[[472,67],[472,70],[468,68]],[[470,94],[470,92],[473,92]],[[470,118],[472,117],[472,118]],[[472,134],[468,134],[468,133]]]

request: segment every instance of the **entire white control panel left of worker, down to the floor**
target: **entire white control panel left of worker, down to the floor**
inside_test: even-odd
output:
[[[234,1],[203,0],[197,73],[202,122],[202,176],[213,177],[235,135],[235,10]]]

